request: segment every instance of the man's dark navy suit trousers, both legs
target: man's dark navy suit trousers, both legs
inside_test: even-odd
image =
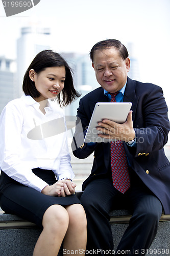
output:
[[[162,205],[136,174],[124,195],[113,187],[110,177],[101,177],[86,186],[80,200],[87,216],[88,251],[98,250],[98,255],[108,255],[108,251],[112,254],[114,234],[112,238],[109,212],[119,207],[125,209],[127,205],[132,217],[116,249],[117,254],[125,254],[128,250],[128,255],[144,255],[144,250],[151,246],[157,233]],[[134,254],[136,250],[138,254]]]

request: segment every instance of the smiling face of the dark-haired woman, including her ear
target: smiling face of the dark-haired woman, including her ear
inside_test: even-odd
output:
[[[46,68],[40,73],[30,70],[30,78],[34,80],[35,87],[40,93],[36,101],[55,98],[64,88],[65,67]]]

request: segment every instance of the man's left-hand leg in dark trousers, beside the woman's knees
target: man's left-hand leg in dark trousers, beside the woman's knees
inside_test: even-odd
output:
[[[116,195],[112,181],[102,178],[91,181],[81,196],[87,217],[87,250],[94,251],[92,254],[105,255],[106,250],[110,250],[109,254],[113,251],[109,212]]]

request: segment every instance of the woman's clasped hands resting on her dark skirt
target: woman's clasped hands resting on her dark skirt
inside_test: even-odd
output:
[[[41,190],[42,194],[54,197],[65,197],[75,193],[76,183],[69,180],[59,180],[53,185],[47,185]]]

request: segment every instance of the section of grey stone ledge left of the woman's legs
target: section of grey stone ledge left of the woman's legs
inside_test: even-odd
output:
[[[34,223],[1,213],[1,256],[32,256],[41,231]]]

